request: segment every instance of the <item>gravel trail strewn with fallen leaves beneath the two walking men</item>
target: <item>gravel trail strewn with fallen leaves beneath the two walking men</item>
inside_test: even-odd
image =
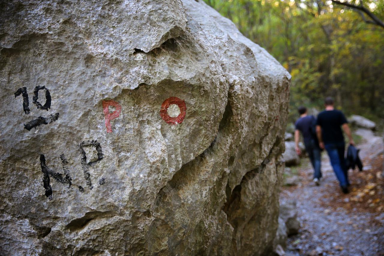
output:
[[[364,140],[358,148],[366,168],[361,173],[349,171],[354,192],[341,192],[325,152],[320,186],[313,184],[312,168],[306,165],[298,171],[300,184],[282,189],[282,202],[297,200],[302,225],[298,235],[288,238],[286,255],[384,255],[384,209],[378,207],[384,200],[384,179],[379,177],[384,145],[369,130],[356,133]]]

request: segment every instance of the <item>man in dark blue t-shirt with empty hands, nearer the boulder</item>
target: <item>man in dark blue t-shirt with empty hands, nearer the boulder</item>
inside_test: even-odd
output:
[[[311,164],[314,169],[313,181],[318,186],[320,185],[321,178],[321,150],[316,138],[313,127],[316,125],[316,118],[314,116],[308,116],[307,109],[303,106],[298,108],[300,118],[295,123],[295,145],[296,153],[301,154],[299,148],[300,132],[303,134],[305,150],[310,157]]]

